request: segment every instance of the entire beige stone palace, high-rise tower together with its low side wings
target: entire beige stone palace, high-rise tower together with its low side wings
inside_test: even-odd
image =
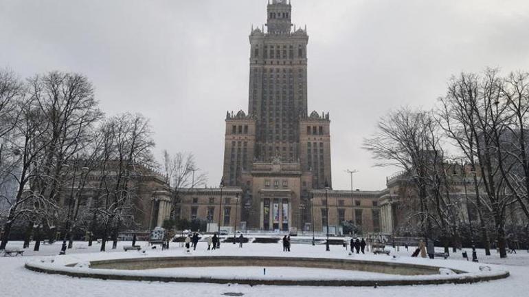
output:
[[[229,230],[322,231],[329,219],[389,232],[390,189],[332,190],[330,117],[308,112],[308,34],[291,19],[290,1],[272,0],[266,25],[251,29],[248,109],[226,114],[223,186],[183,190],[177,217]],[[169,217],[160,197],[150,228]]]

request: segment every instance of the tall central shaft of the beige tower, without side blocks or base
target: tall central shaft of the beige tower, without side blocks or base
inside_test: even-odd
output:
[[[286,0],[268,5],[267,32],[249,36],[249,115],[256,118],[256,159],[300,158],[300,118],[307,114],[306,30],[294,30]]]

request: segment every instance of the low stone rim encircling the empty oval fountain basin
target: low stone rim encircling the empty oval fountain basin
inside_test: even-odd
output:
[[[444,283],[476,283],[491,281],[509,276],[508,272],[497,274],[476,275],[455,270],[456,274],[440,278],[430,278],[439,274],[440,267],[414,265],[409,263],[392,263],[363,261],[354,259],[320,259],[320,258],[288,258],[288,257],[244,257],[244,256],[191,256],[191,257],[160,257],[139,259],[113,259],[92,261],[90,270],[76,270],[76,264],[56,267],[43,267],[27,263],[25,267],[36,272],[63,274],[75,277],[100,278],[121,281],[159,281],[179,283],[238,283],[242,285],[306,285],[306,286],[388,286],[388,285],[439,285]],[[120,273],[120,270],[148,270],[171,267],[219,267],[219,266],[256,266],[256,267],[311,267],[339,270],[357,270],[417,276],[417,278],[379,279],[379,280],[293,280],[293,279],[231,279],[210,277],[153,276],[137,273]],[[109,271],[110,270],[110,271]]]

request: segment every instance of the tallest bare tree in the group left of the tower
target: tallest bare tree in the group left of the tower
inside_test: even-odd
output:
[[[50,127],[42,135],[49,145],[39,166],[43,178],[36,188],[47,199],[59,201],[65,196],[61,191],[69,179],[75,179],[64,172],[65,164],[89,144],[93,124],[102,118],[102,112],[94,98],[93,86],[80,74],[49,72],[28,79],[27,84],[30,96]],[[56,225],[55,220],[45,221],[49,222],[48,228]]]

